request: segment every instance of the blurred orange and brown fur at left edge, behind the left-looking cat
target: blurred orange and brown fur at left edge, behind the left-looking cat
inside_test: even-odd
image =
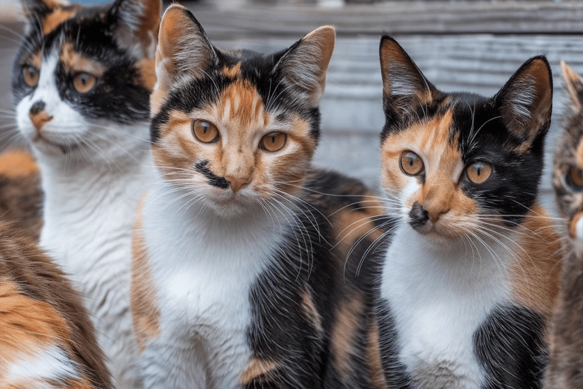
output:
[[[0,220],[38,241],[43,226],[40,173],[34,158],[24,150],[0,154]]]

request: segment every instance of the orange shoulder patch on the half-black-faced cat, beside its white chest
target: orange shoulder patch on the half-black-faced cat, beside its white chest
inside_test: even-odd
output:
[[[526,215],[509,269],[514,299],[526,307],[550,316],[560,285],[560,242],[552,220],[540,205]]]

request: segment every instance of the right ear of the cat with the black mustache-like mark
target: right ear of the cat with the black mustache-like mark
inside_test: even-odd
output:
[[[326,71],[332,58],[336,31],[332,26],[318,27],[287,51],[273,67],[297,101],[318,107],[326,86]]]

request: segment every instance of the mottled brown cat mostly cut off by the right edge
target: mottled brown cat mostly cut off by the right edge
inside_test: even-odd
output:
[[[561,63],[568,91],[564,130],[554,153],[553,186],[563,243],[559,303],[546,388],[583,388],[583,78]]]

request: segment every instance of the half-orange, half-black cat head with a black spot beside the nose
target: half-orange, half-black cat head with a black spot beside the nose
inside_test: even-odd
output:
[[[526,61],[489,99],[441,92],[389,36],[380,57],[381,182],[393,211],[436,239],[517,226],[543,169],[553,93],[545,57]]]

